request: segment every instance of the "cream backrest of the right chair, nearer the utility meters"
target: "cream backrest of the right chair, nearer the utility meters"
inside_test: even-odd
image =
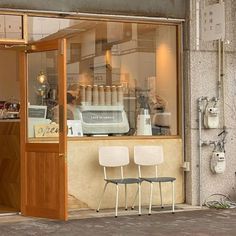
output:
[[[134,162],[137,165],[158,165],[164,161],[162,146],[134,146]]]

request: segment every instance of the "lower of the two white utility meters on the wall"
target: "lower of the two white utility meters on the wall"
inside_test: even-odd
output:
[[[211,157],[211,171],[214,174],[222,174],[225,171],[225,153],[213,152]]]

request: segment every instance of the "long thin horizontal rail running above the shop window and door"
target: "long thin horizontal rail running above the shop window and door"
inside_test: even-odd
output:
[[[128,16],[128,15],[112,15],[112,14],[96,14],[96,13],[83,13],[83,12],[63,12],[63,11],[43,11],[43,10],[22,10],[11,8],[0,8],[1,14],[9,13],[22,13],[28,16],[50,16],[60,18],[77,18],[87,20],[115,20],[115,21],[135,21],[135,22],[163,22],[163,23],[181,23],[185,19],[168,18],[168,17],[148,17],[148,16]]]

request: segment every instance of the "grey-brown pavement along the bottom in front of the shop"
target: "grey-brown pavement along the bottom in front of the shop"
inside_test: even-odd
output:
[[[154,209],[151,216],[146,213],[138,216],[136,211],[120,211],[118,218],[111,211],[80,211],[70,214],[67,222],[0,216],[0,235],[235,236],[235,222],[236,209],[181,210],[179,207],[175,214]]]

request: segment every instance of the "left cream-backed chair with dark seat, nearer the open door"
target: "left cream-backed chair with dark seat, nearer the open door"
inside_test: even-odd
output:
[[[119,197],[119,184],[125,186],[125,210],[127,210],[127,185],[138,184],[137,193],[139,193],[139,215],[141,215],[141,192],[139,178],[124,178],[123,166],[129,164],[129,149],[124,146],[103,146],[99,148],[99,164],[104,168],[104,180],[105,186],[100,198],[97,212],[99,212],[101,202],[106,191],[106,187],[109,183],[116,185],[116,206],[115,206],[115,217],[118,213],[118,197]],[[112,179],[107,177],[106,167],[120,167],[121,178]],[[136,194],[137,195],[137,194]]]

